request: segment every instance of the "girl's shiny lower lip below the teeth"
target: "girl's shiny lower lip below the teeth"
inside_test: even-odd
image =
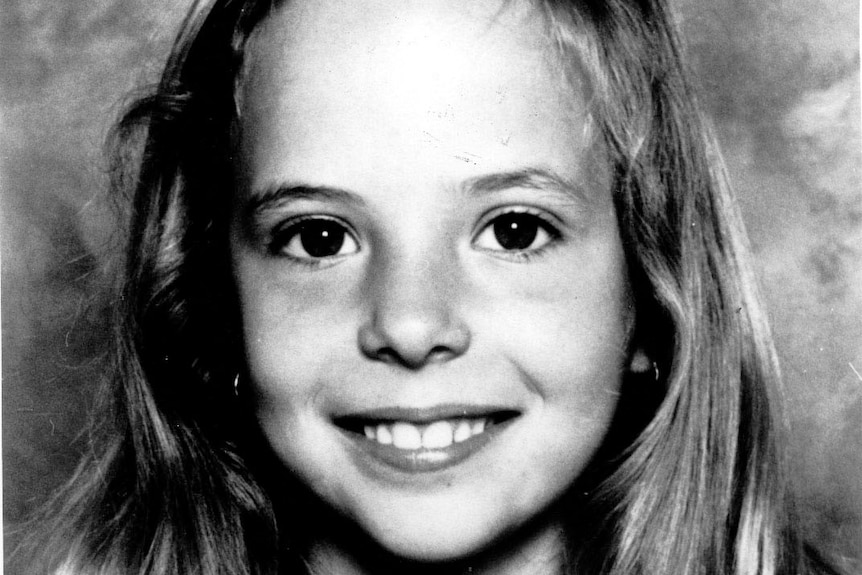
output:
[[[513,420],[489,426],[483,433],[460,443],[440,449],[398,449],[383,445],[357,433],[347,432],[362,454],[403,473],[431,473],[454,467],[482,450],[493,441]]]

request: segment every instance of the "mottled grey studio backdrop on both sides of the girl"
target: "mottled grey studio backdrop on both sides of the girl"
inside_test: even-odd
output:
[[[100,145],[188,0],[2,0],[6,544],[73,469],[110,250]],[[787,380],[806,521],[862,557],[862,152],[854,0],[678,0]],[[855,563],[862,570],[862,564]]]

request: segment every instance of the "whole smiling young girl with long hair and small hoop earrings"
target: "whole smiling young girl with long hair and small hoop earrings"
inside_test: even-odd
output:
[[[202,2],[117,134],[48,571],[829,572],[661,0]]]

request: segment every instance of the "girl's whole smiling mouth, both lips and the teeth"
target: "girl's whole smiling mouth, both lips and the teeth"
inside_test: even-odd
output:
[[[520,413],[510,409],[385,409],[334,420],[364,455],[404,472],[437,471],[482,449]]]

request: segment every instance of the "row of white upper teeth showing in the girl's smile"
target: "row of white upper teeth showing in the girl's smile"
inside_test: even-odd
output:
[[[461,443],[485,431],[486,420],[440,420],[415,425],[406,421],[366,425],[365,437],[398,449],[442,449],[452,443]]]

